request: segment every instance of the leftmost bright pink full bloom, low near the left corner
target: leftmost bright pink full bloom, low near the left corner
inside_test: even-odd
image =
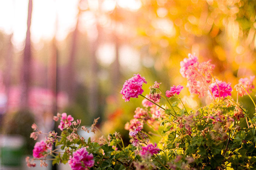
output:
[[[41,140],[40,142],[35,143],[35,146],[33,149],[34,158],[45,157],[48,149],[52,149],[52,147],[47,145],[44,140]]]

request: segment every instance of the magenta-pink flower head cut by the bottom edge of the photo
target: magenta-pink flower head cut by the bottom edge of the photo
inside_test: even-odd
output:
[[[86,148],[77,149],[73,153],[73,157],[70,156],[68,163],[72,170],[88,169],[88,167],[93,167],[94,165],[93,154],[89,154]]]

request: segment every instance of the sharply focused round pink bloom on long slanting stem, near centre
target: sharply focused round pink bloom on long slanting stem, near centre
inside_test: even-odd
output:
[[[130,98],[138,98],[138,95],[143,93],[142,84],[147,83],[144,77],[137,74],[131,79],[126,80],[120,93],[125,101],[130,101]]]

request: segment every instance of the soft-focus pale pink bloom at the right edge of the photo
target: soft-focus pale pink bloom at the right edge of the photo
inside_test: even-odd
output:
[[[253,80],[254,80],[255,76],[250,76],[250,80],[246,77],[246,78],[241,78],[239,79],[239,83],[235,85],[236,91],[238,91],[238,94],[240,96],[246,95],[246,91],[245,89],[248,91],[248,93],[250,93],[252,91],[252,89],[254,88]],[[245,89],[243,89],[243,87]]]

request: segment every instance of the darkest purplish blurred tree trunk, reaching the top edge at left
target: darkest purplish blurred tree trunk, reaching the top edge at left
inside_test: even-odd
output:
[[[21,108],[28,108],[29,88],[31,83],[31,40],[30,25],[32,16],[32,0],[28,1],[27,34],[24,48],[22,78],[21,78]]]

